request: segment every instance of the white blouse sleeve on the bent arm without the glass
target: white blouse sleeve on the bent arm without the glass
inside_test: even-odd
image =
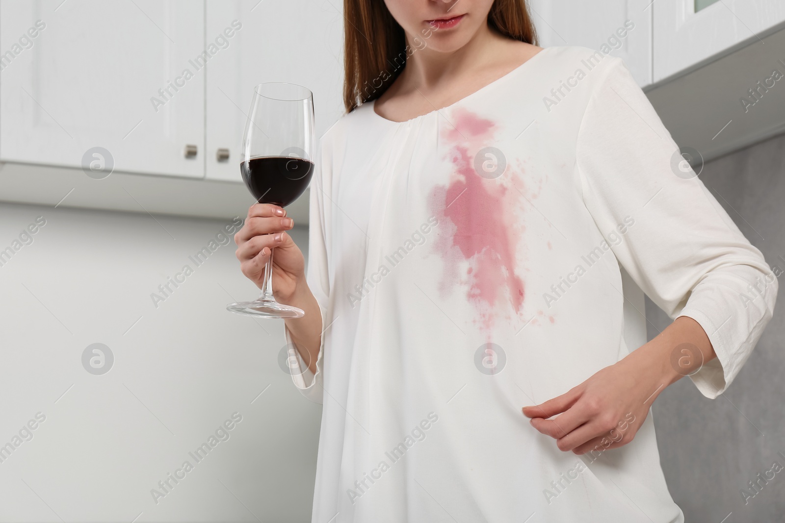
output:
[[[690,377],[704,396],[717,398],[772,318],[777,278],[681,162],[623,61],[605,60],[611,63],[597,71],[603,77],[578,133],[583,200],[619,263],[652,301],[670,318],[688,316],[706,331],[717,358]],[[615,231],[625,229],[619,242]]]

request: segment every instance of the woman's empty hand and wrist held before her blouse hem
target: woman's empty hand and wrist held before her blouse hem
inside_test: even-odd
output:
[[[682,316],[654,340],[566,394],[524,407],[524,416],[531,418],[532,427],[555,438],[565,452],[615,449],[633,440],[665,387],[714,357],[698,322]]]

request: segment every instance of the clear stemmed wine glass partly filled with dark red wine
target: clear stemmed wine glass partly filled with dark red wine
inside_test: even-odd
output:
[[[240,151],[240,173],[259,203],[285,207],[308,187],[313,175],[313,95],[301,85],[269,82],[254,88]],[[257,318],[300,318],[298,307],[272,297],[272,250],[261,296],[226,308]]]

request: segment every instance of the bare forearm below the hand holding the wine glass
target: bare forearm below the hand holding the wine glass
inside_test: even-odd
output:
[[[279,298],[279,301],[300,307],[305,311],[305,316],[302,318],[290,318],[285,321],[294,347],[310,371],[316,373],[316,358],[319,357],[322,341],[322,313],[305,278],[298,281],[292,296],[287,296],[285,300]]]

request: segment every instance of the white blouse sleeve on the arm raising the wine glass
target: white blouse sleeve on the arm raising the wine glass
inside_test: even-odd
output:
[[[289,354],[287,367],[290,369],[294,386],[298,387],[305,398],[315,403],[322,403],[323,401],[324,331],[330,325],[330,321],[327,320],[330,280],[327,271],[327,236],[325,234],[327,228],[324,221],[326,215],[324,212],[323,194],[323,187],[325,187],[323,178],[330,172],[326,165],[328,161],[329,158],[324,154],[324,148],[322,147],[322,153],[311,182],[309,201],[308,268],[305,280],[308,282],[316,302],[319,303],[319,311],[322,314],[322,336],[319,345],[319,356],[316,358],[316,373],[311,372],[299,351],[294,348],[289,329],[284,326],[284,336],[286,336]],[[327,187],[329,187],[329,183]]]

